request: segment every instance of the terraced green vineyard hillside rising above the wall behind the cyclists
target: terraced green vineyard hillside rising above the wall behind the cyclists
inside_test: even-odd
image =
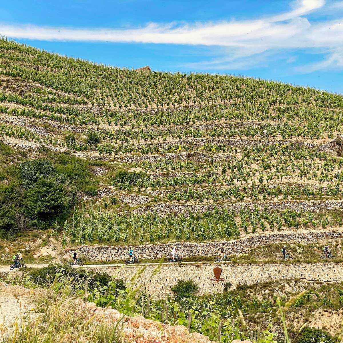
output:
[[[0,100],[3,233],[55,227],[70,247],[341,230],[341,95],[2,38]]]

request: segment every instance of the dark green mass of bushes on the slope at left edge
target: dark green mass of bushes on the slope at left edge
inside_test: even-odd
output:
[[[44,149],[44,158],[22,159],[21,152],[0,154],[0,237],[13,239],[27,229],[46,229],[64,222],[76,200],[76,189],[96,195],[90,162]],[[19,163],[11,164],[15,155]],[[76,187],[75,187],[76,186]]]

